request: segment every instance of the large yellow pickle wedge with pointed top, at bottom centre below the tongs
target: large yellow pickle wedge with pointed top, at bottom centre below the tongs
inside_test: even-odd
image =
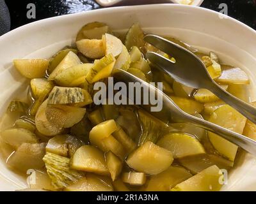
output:
[[[126,160],[130,168],[150,175],[161,173],[172,162],[172,152],[149,141],[134,150]]]

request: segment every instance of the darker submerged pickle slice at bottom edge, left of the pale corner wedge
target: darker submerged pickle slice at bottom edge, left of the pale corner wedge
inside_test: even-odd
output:
[[[167,170],[150,176],[145,191],[170,191],[172,187],[190,177],[191,173],[181,166],[170,166]]]

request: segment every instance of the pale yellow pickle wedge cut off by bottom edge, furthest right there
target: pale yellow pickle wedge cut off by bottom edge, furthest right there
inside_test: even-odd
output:
[[[218,166],[210,166],[188,180],[173,187],[171,191],[220,191],[222,185]]]

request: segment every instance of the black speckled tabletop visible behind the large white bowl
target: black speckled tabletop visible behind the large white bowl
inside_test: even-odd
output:
[[[138,0],[139,1],[139,0]],[[36,19],[28,19],[28,3],[36,5]],[[221,3],[228,5],[228,15],[256,29],[256,0],[205,0],[202,7],[220,11]],[[6,0],[12,19],[12,29],[42,18],[100,8],[93,0]]]

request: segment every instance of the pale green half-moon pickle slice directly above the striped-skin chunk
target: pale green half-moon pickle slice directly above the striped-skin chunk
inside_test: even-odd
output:
[[[86,75],[92,68],[93,64],[78,64],[64,69],[59,73],[54,81],[62,87],[77,87],[86,81]]]

